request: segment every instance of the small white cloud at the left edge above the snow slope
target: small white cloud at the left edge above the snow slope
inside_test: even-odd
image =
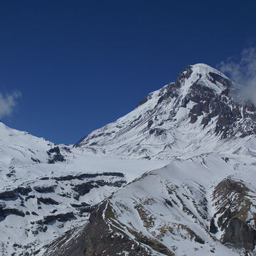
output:
[[[15,91],[6,95],[0,92],[0,118],[8,116],[14,111],[18,97],[21,97],[21,92]]]

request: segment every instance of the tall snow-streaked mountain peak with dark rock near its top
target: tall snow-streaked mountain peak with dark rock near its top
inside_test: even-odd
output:
[[[206,64],[189,65],[176,82],[149,93],[135,110],[75,146],[134,159],[235,150],[237,139],[246,141],[256,133],[256,108],[234,100],[234,90],[220,71]]]

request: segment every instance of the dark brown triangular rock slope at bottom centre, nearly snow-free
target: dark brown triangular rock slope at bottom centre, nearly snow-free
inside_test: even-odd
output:
[[[92,256],[92,255],[127,255],[129,256],[152,256],[154,255],[142,244],[138,244],[129,239],[125,233],[116,235],[117,230],[109,227],[102,216],[105,214],[107,218],[114,217],[112,210],[107,206],[107,201],[102,203],[92,215],[90,215],[90,223],[85,229],[75,235],[75,242],[68,241],[70,234],[65,238],[55,240],[49,245],[50,250],[46,250],[44,255],[48,256]],[[72,232],[70,232],[72,233]],[[99,235],[101,234],[101,235]],[[146,240],[144,241],[146,242]],[[131,248],[133,248],[131,250]],[[167,254],[168,255],[168,254]],[[169,254],[172,256],[172,254]]]

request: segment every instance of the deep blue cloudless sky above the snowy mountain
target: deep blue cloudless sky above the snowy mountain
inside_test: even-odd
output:
[[[0,2],[0,92],[10,127],[75,143],[133,110],[193,63],[255,42],[256,1]]]

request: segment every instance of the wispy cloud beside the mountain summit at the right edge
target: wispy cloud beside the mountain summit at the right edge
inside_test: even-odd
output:
[[[238,83],[237,89],[242,97],[256,104],[256,48],[242,50],[237,61],[228,58],[218,68]]]

